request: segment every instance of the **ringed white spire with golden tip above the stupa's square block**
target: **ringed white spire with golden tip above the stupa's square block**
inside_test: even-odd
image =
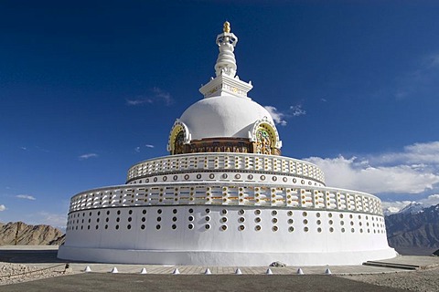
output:
[[[230,23],[226,21],[223,26],[222,34],[217,36],[217,45],[219,47],[219,55],[217,64],[215,64],[215,73],[217,77],[221,74],[235,77],[236,75],[236,59],[233,50],[238,43],[238,37],[230,33]]]

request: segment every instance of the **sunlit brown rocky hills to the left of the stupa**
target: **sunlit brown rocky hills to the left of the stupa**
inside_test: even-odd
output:
[[[62,232],[49,225],[0,223],[0,245],[60,245]]]

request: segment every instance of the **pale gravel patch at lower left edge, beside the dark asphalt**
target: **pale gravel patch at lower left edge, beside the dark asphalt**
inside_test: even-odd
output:
[[[54,276],[63,276],[70,273],[65,271],[65,265],[54,265],[48,268],[25,266],[0,262],[0,285],[16,284],[21,282],[44,279]]]

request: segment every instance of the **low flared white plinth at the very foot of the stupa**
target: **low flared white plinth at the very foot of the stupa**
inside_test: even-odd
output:
[[[288,266],[361,265],[368,260],[391,258],[392,248],[338,253],[256,253],[220,251],[164,251],[77,248],[59,246],[59,258],[102,263],[187,266],[269,266],[281,261]]]

